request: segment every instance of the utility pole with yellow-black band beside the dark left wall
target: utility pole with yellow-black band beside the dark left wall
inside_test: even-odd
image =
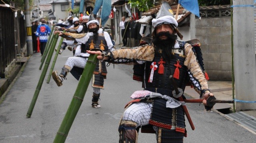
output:
[[[29,12],[29,0],[25,0],[25,19],[26,19],[26,30],[27,30],[27,53],[28,55],[33,55],[32,48],[32,29],[31,29],[31,21],[30,21],[30,12]]]

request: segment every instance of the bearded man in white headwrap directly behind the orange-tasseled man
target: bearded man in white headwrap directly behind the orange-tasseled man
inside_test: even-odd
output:
[[[77,17],[73,18],[72,23],[73,23],[73,25],[71,25],[69,28],[62,27],[61,29],[65,30],[66,32],[70,32],[70,33],[82,33],[83,32],[84,26],[79,25],[79,19]],[[73,51],[72,48],[73,48],[73,46],[75,46],[74,44],[77,44],[77,42],[73,41],[73,40],[64,40],[61,44],[59,54],[61,54],[66,49],[67,46],[69,46],[68,49],[70,51]],[[55,48],[55,51],[57,51],[57,48]]]

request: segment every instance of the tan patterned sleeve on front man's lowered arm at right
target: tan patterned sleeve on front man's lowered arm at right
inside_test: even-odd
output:
[[[188,68],[190,82],[193,84],[196,92],[198,92],[202,97],[204,92],[209,92],[208,82],[198,60],[196,59],[196,54],[192,50],[192,46],[188,43],[185,44],[185,56],[186,59],[184,65]]]

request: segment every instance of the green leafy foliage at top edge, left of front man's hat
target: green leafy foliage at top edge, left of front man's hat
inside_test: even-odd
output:
[[[128,4],[132,5],[132,8],[138,8],[139,11],[144,12],[154,6],[154,0],[129,0]]]

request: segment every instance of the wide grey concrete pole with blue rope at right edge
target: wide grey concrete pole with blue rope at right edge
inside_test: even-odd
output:
[[[254,0],[233,0],[235,98],[256,101]],[[256,104],[236,102],[236,111],[256,110]]]

